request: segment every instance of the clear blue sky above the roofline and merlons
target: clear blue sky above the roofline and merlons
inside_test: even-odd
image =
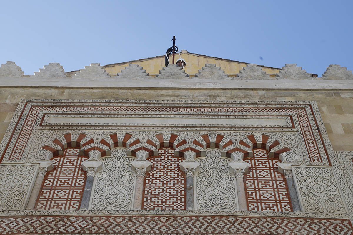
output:
[[[353,1],[0,1],[0,64],[26,75],[179,49],[265,66],[353,70]],[[261,59],[262,57],[262,59]]]

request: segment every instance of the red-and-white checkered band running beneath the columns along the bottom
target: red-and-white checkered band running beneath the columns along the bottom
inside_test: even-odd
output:
[[[271,234],[352,235],[349,219],[235,216],[0,217],[0,233],[22,234]]]

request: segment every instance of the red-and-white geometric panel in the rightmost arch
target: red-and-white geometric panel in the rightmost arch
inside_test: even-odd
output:
[[[253,150],[254,156],[244,175],[250,211],[292,211],[285,177],[277,171],[280,161],[269,158],[265,149]]]

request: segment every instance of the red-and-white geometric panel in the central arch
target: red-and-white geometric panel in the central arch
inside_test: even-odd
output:
[[[143,206],[146,210],[185,210],[185,174],[179,170],[180,157],[174,150],[161,148],[151,157],[152,170],[145,180]]]

